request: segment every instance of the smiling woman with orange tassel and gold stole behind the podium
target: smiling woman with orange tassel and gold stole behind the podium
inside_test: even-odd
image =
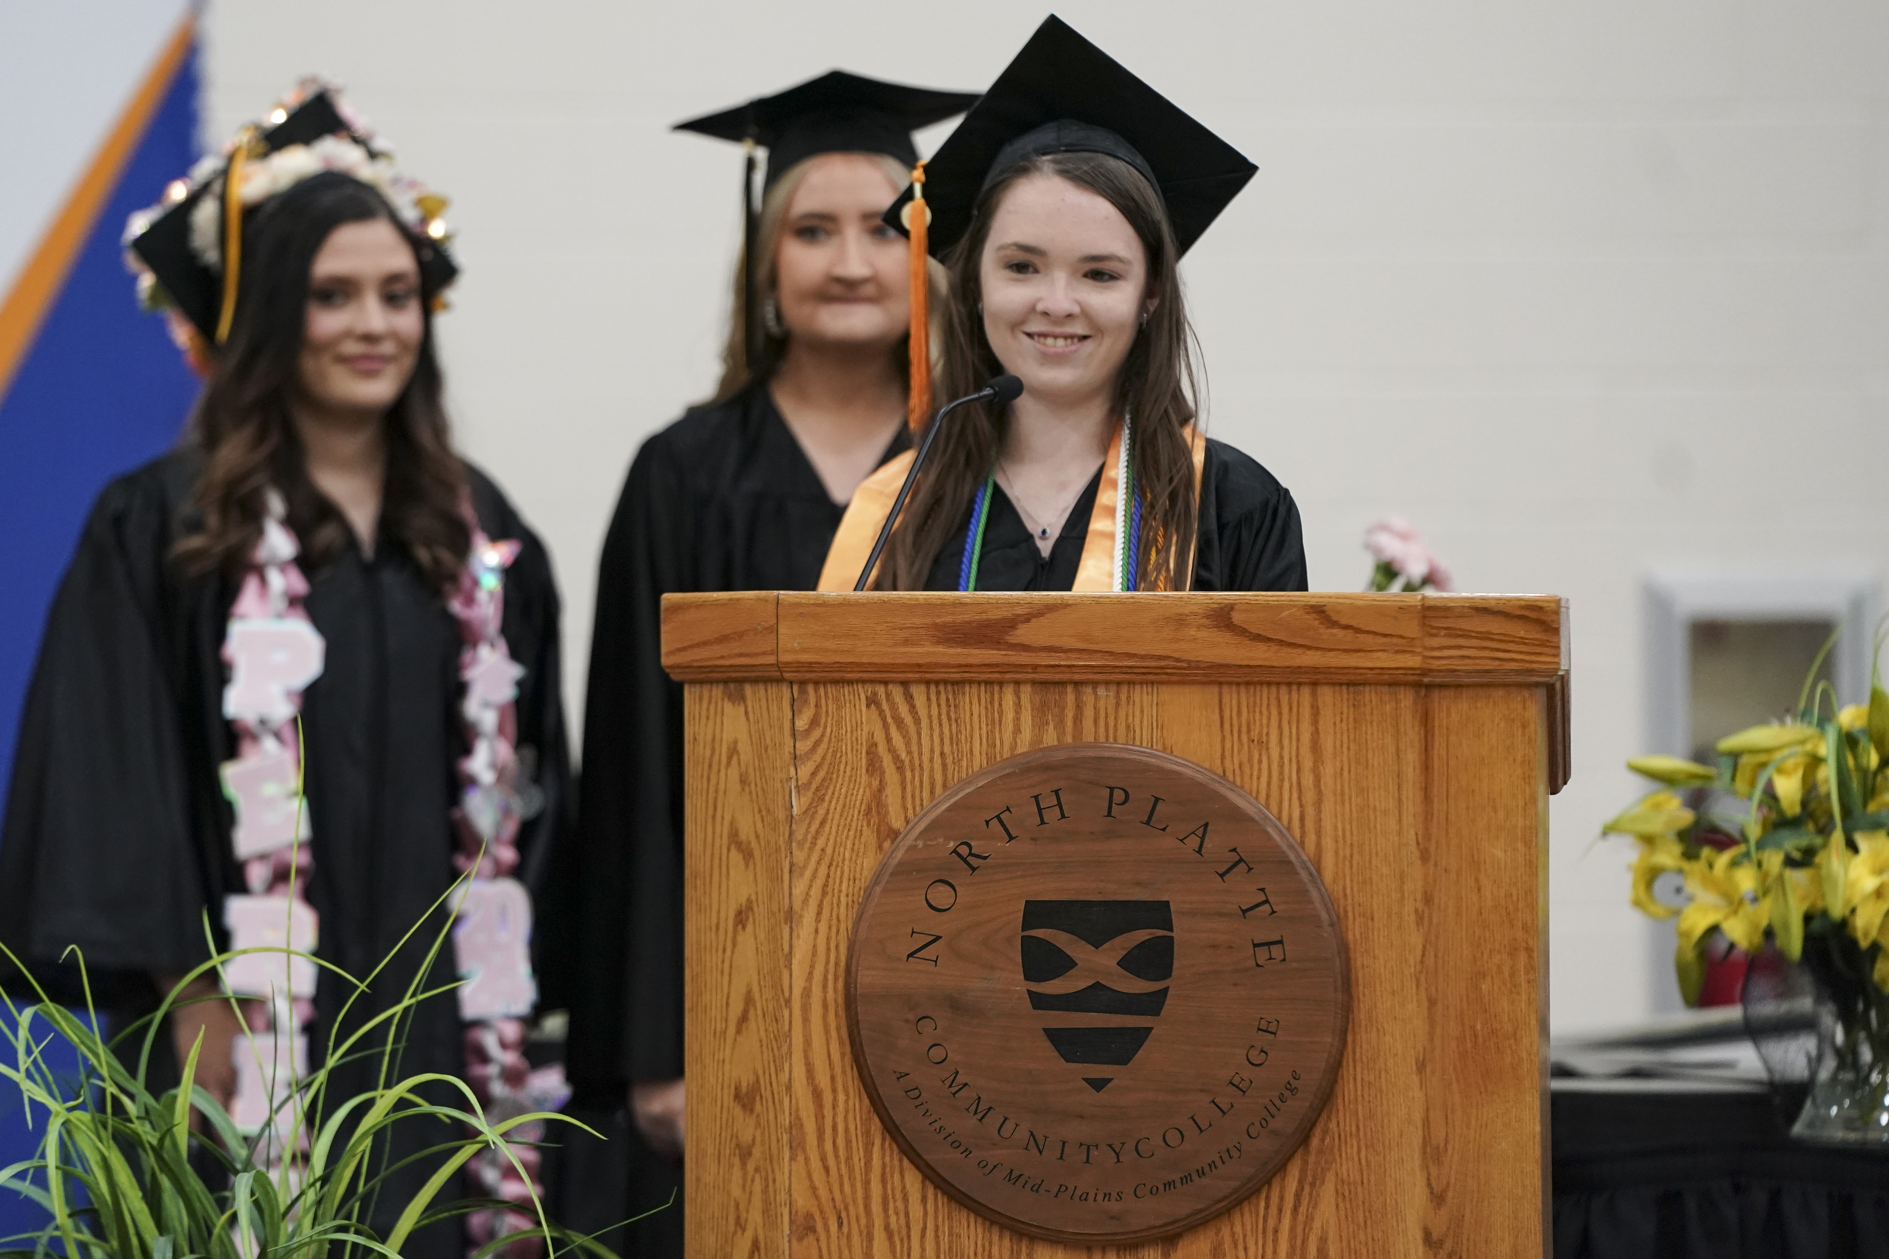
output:
[[[1050,17],[888,221],[950,272],[954,411],[871,589],[1303,591],[1292,495],[1196,427],[1181,255],[1254,166]],[[910,455],[854,495],[820,589],[850,591]]]

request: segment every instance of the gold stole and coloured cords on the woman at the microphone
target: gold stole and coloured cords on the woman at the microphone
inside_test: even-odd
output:
[[[1207,442],[1190,425],[1184,430],[1188,447],[1194,453],[1194,500],[1200,502],[1200,479],[1207,459]],[[820,566],[818,591],[850,591],[865,568],[865,559],[873,553],[886,513],[892,512],[899,485],[907,468],[916,459],[914,451],[905,451],[888,459],[873,476],[859,483],[846,515],[841,517],[833,546],[827,547],[825,562]],[[958,572],[958,589],[977,589],[977,564],[982,553],[984,519],[990,512],[992,478],[984,479],[971,500],[971,527],[965,534],[963,561]],[[1133,472],[1133,427],[1124,421],[1115,427],[1109,440],[1109,453],[1101,461],[1101,485],[1096,489],[1096,506],[1088,513],[1088,534],[1082,540],[1082,559],[1075,570],[1071,591],[1135,591],[1139,587],[1139,540],[1141,540],[1141,496],[1135,493]],[[1194,583],[1194,555],[1181,566],[1181,589]],[[1162,578],[1149,589],[1169,589]]]

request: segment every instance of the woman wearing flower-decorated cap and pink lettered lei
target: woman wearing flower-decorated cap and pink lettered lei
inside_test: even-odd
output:
[[[287,934],[368,982],[251,953],[223,972],[240,1006],[215,972],[189,983],[208,1000],[172,1016],[176,1049],[204,1032],[196,1082],[257,1134],[293,1125],[289,1076],[461,976],[332,1063],[327,1110],[417,1072],[465,1078],[489,1116],[561,1100],[523,1059],[527,889],[569,808],[557,589],[451,444],[442,210],[304,83],[132,219],[142,296],[206,381],[179,447],[98,496],[25,706],[0,942],[36,978],[70,991],[76,949],[136,1016],[213,949]],[[438,1140],[436,1121],[397,1125],[391,1161]],[[397,1212],[434,1165],[391,1170],[380,1200]],[[502,1155],[465,1182],[521,1189]],[[404,1253],[523,1223],[485,1210]]]

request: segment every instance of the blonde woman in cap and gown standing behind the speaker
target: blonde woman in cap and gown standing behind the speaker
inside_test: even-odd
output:
[[[880,213],[912,130],[973,100],[835,70],[678,125],[746,145],[746,238],[722,383],[637,453],[597,578],[567,1066],[580,1102],[627,1089],[655,1151],[633,1155],[612,1223],[669,1199],[684,1142],[682,687],[663,674],[661,598],[812,589],[854,487],[910,445],[907,251]],[[676,1248],[680,1217],[652,1217],[631,1253]]]

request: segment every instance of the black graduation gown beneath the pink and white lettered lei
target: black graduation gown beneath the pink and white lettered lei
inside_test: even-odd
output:
[[[217,948],[227,944],[223,897],[244,891],[217,781],[217,766],[234,755],[219,653],[236,589],[221,576],[185,578],[168,561],[187,527],[198,466],[195,453],[178,451],[98,496],[47,619],[0,838],[0,940],[66,985],[70,968],[55,963],[68,946],[81,948],[130,1016],[151,1008],[145,974],[210,957],[206,914]],[[523,542],[506,578],[504,634],[525,668],[518,742],[535,751],[544,793],[544,808],[519,836],[518,876],[536,887],[570,797],[557,591],[538,538],[489,479],[470,478],[485,532]],[[467,746],[457,715],[459,627],[385,538],[374,559],[349,546],[327,566],[304,564],[304,574],[308,615],[327,640],[323,674],[302,702],[314,832],[308,898],[319,914],[317,953],[366,978],[455,878],[453,761]],[[349,1029],[399,1002],[436,929],[429,921],[374,980],[349,1012]],[[429,983],[450,983],[451,970],[448,940]],[[342,985],[323,972],[310,1029],[315,1061],[342,1000]],[[404,1032],[393,1080],[463,1070],[453,995],[423,1002]],[[159,1049],[170,1057],[168,1036]],[[329,1104],[374,1087],[376,1072],[378,1055],[344,1063]],[[397,1151],[442,1140],[431,1121],[406,1127]],[[376,1212],[382,1229],[427,1170],[395,1174]],[[429,1233],[416,1234],[406,1253],[463,1253],[457,1223]]]

